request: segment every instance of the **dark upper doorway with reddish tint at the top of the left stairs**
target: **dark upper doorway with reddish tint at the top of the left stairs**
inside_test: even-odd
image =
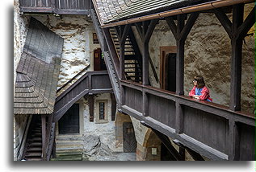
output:
[[[100,48],[94,50],[94,71],[105,71],[107,70],[104,61],[103,53]]]

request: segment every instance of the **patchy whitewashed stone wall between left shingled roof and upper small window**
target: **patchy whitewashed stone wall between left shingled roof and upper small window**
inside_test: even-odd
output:
[[[64,39],[58,88],[89,64],[90,68],[86,71],[93,69],[93,51],[99,44],[92,42],[94,27],[90,18],[85,15],[61,15],[61,18],[53,15],[34,17]]]

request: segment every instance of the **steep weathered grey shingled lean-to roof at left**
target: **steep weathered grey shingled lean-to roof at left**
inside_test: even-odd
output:
[[[50,114],[56,98],[64,39],[31,18],[16,70],[15,114]]]

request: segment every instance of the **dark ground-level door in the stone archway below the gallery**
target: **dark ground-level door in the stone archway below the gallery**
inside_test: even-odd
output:
[[[136,138],[132,122],[123,123],[124,152],[136,152]]]

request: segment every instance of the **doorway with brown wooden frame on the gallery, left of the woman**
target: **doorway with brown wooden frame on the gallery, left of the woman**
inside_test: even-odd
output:
[[[176,47],[160,47],[160,86],[170,92],[176,92]]]

